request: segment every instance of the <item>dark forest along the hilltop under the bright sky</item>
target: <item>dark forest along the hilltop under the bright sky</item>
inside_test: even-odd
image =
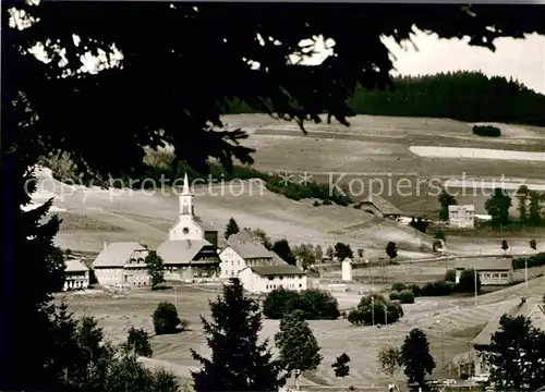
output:
[[[545,125],[545,95],[512,78],[463,71],[396,77],[393,84],[390,90],[360,87],[348,103],[355,114]],[[243,101],[232,101],[227,112],[257,111]]]

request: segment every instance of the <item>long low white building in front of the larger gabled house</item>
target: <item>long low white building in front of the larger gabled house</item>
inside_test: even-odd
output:
[[[242,286],[250,293],[270,293],[276,289],[306,290],[306,272],[302,269],[283,266],[246,267],[238,275]]]

